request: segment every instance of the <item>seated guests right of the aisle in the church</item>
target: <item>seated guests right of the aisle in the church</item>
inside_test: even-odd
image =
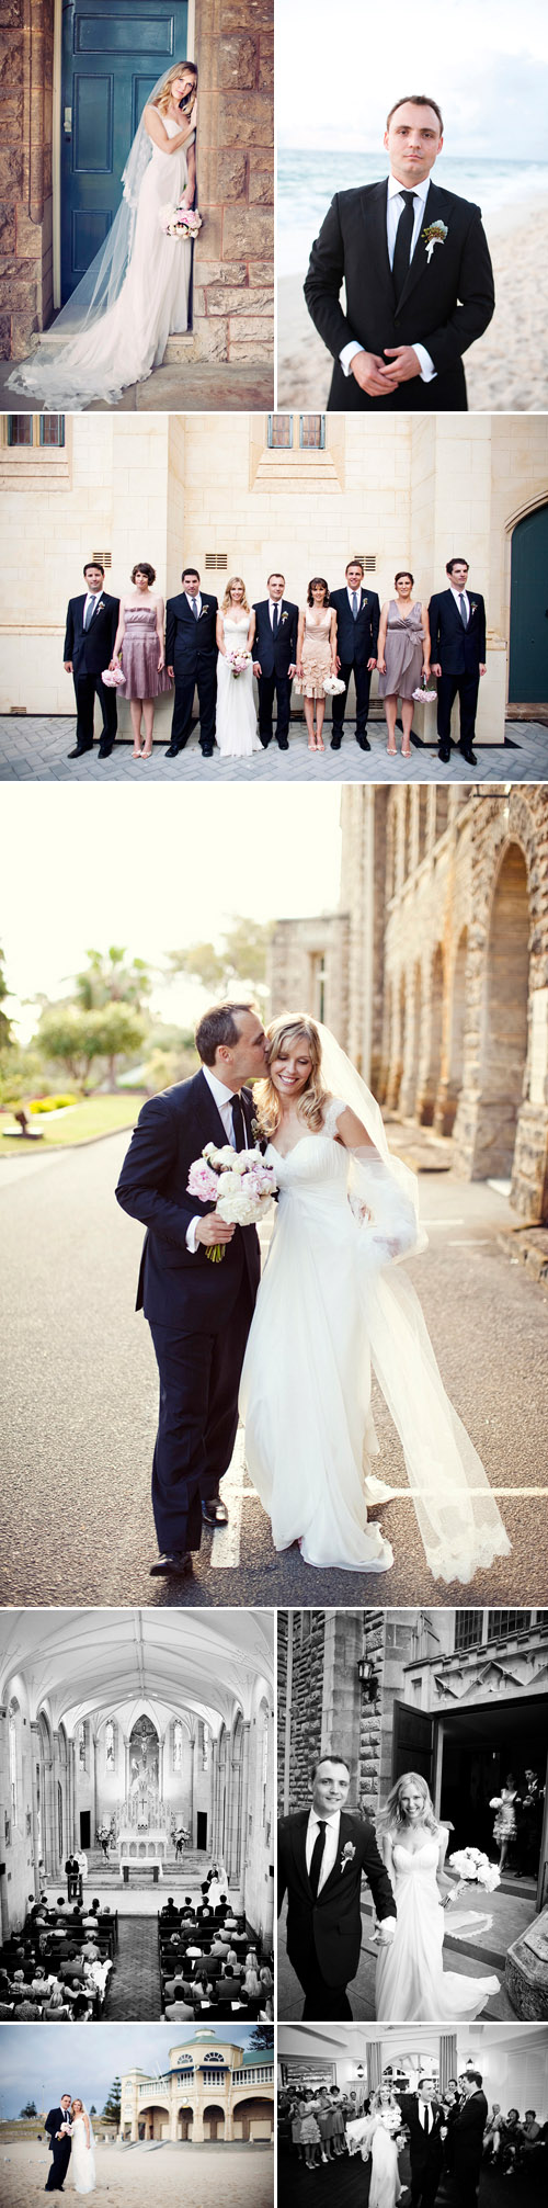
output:
[[[201,1883],[199,1899],[172,1894],[159,1912],[161,2014],[170,2023],[201,2014],[217,2020],[274,2020],[272,1954],[236,1914],[225,1875],[217,1868]]]

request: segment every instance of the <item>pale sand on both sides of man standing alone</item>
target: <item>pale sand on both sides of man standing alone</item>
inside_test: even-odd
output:
[[[471,413],[548,408],[548,197],[488,219],[497,307],[484,338],[464,355]],[[303,276],[278,283],[278,406],[327,406],[331,355],[316,336]]]

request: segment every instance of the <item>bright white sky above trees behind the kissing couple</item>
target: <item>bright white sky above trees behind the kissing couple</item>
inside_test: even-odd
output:
[[[119,943],[161,963],[183,943],[219,943],[243,914],[270,921],[338,905],[340,788],[309,784],[166,793],[102,788],[7,788],[2,799],[0,945],[29,1042],[35,1011],[24,998],[68,994],[86,949]],[[192,983],[157,989],[152,1011],[190,1022],[203,1007]]]

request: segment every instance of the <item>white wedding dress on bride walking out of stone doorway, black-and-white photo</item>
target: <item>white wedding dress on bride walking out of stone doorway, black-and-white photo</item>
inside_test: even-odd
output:
[[[466,1978],[444,1970],[444,1908],[438,1892],[438,1839],[411,1855],[398,1839],[391,1850],[396,1934],[376,1965],[376,2020],[387,2025],[446,2025],[482,2016],[499,1978]]]

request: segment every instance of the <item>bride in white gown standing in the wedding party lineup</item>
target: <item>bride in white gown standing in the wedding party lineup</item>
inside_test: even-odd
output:
[[[225,585],[223,605],[217,614],[217,744],[221,760],[250,760],[261,751],[254,711],[252,669],[254,614],[247,603],[241,574],[232,574]],[[232,658],[247,651],[247,667],[232,671]]]

